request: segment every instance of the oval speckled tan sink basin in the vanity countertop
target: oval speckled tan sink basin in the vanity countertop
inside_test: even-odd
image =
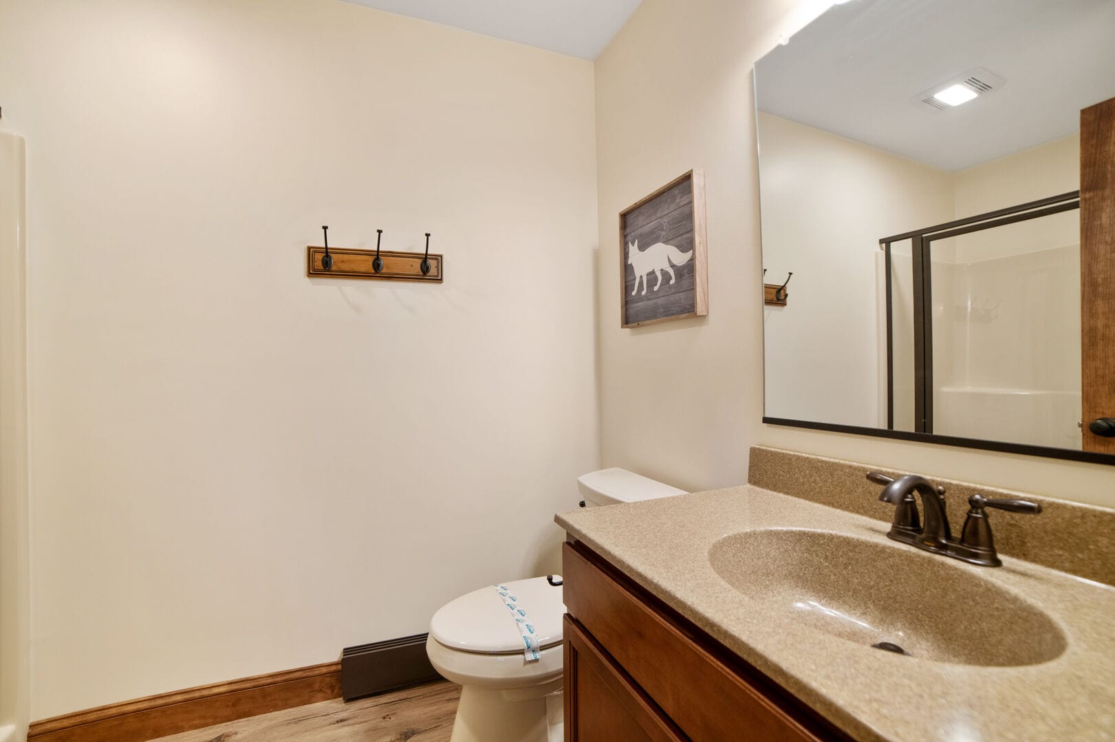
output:
[[[815,530],[725,536],[712,569],[772,621],[913,657],[1034,665],[1065,651],[1045,613],[946,557]]]

